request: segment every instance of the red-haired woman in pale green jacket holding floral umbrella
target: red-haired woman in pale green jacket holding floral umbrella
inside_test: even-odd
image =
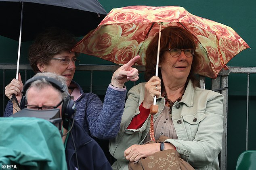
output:
[[[150,113],[157,96],[158,112],[153,116],[155,139],[166,136],[164,149],[175,149],[196,170],[218,170],[223,132],[223,96],[199,88],[195,76],[199,54],[193,35],[180,27],[162,29],[159,73],[155,75],[158,34],[146,51],[146,83],[128,92],[118,136],[109,143],[117,159],[116,169],[128,169],[136,162],[160,151],[160,143],[150,140]],[[157,166],[157,163],[156,165]]]

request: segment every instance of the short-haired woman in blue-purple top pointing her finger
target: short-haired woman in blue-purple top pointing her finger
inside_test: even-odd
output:
[[[69,93],[76,102],[75,119],[91,136],[99,139],[111,139],[120,129],[127,81],[138,80],[138,70],[132,68],[139,58],[134,57],[127,64],[116,70],[112,76],[104,99],[104,103],[93,93],[84,93],[82,88],[74,82],[77,54],[70,52],[77,41],[73,35],[64,30],[48,29],[37,36],[29,49],[29,62],[34,72],[54,72],[65,77]],[[23,83],[21,77],[13,79],[5,88],[6,96],[11,99],[15,94],[18,103],[21,100]],[[19,111],[15,100],[9,101],[4,116],[8,117]]]

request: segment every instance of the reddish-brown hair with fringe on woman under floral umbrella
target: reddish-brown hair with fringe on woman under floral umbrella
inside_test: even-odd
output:
[[[156,59],[157,59],[157,48],[158,48],[158,34],[151,40],[149,46],[147,47],[146,56],[145,56],[145,80],[148,81],[152,76],[155,76],[156,69]],[[193,35],[181,27],[166,27],[161,31],[161,40],[160,40],[160,51],[159,51],[159,64],[164,62],[164,53],[169,48],[179,48],[187,49],[192,48],[195,50],[195,41]],[[199,87],[199,81],[195,76],[195,69],[199,63],[198,53],[194,53],[193,62],[191,65],[191,70],[187,78],[187,82],[191,80],[193,86]],[[158,71],[158,77],[162,80],[161,70]],[[162,83],[163,84],[163,83]],[[162,86],[162,85],[161,85]],[[162,89],[164,87],[162,86]]]

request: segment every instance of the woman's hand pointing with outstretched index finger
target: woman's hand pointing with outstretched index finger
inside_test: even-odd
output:
[[[116,70],[112,76],[111,84],[117,88],[123,88],[124,83],[129,80],[135,82],[138,80],[138,70],[132,68],[132,65],[140,58],[139,55],[132,58],[128,63],[124,64]]]

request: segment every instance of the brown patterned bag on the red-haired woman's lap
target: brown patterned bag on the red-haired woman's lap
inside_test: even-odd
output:
[[[162,136],[159,141],[164,141],[167,138]],[[155,143],[154,141],[149,141],[145,144],[152,142]],[[141,158],[137,163],[129,162],[128,166],[129,170],[195,170],[173,149],[155,152],[147,158]]]

